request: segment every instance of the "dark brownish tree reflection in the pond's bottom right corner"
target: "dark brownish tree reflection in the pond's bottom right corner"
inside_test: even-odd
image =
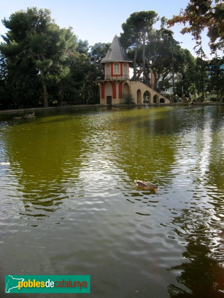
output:
[[[224,295],[224,268],[218,261],[219,252],[222,251],[222,230],[213,226],[210,211],[191,208],[184,210],[173,221],[178,226],[177,234],[187,241],[183,257],[188,261],[169,270],[181,272],[177,281],[190,289],[191,293],[184,291],[181,285],[171,284],[168,286],[170,297],[221,298]]]

